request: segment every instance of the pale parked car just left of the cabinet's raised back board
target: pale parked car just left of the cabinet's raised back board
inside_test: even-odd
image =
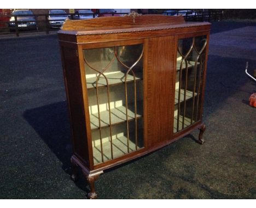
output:
[[[48,21],[51,28],[60,28],[63,22],[68,18],[64,10],[49,10]]]

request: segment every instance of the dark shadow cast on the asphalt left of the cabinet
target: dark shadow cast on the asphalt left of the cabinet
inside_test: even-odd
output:
[[[28,109],[23,114],[27,122],[48,145],[62,163],[62,169],[71,175],[70,158],[73,154],[66,101],[56,102],[39,108]],[[79,170],[79,180],[75,185],[85,193],[89,192],[88,184]]]

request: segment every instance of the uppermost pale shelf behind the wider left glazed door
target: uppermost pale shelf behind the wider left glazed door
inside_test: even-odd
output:
[[[104,73],[104,75],[108,79],[108,85],[125,83],[125,73],[122,71]],[[142,73],[135,72],[136,81],[142,80],[141,75]],[[94,77],[89,77],[89,78],[86,77],[86,83],[87,83],[88,89],[96,88],[96,79],[97,79],[96,75]],[[126,83],[133,82],[133,81],[134,81],[133,75],[128,74],[126,78]],[[106,78],[104,78],[103,75],[101,75],[100,78],[98,79],[98,87],[106,87],[106,86],[107,86]]]

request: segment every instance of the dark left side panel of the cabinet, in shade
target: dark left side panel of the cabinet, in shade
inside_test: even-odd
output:
[[[75,155],[88,163],[88,143],[84,120],[83,90],[77,50],[62,47],[63,70],[71,119],[72,145]]]

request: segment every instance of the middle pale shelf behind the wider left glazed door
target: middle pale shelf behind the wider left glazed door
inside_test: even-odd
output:
[[[128,120],[135,120],[135,111],[134,111],[134,103],[128,105],[127,109]],[[139,119],[142,117],[142,105],[137,105],[137,114],[136,118]],[[109,111],[100,112],[101,117],[101,127],[108,127],[109,124]],[[111,125],[117,125],[126,122],[126,107],[119,106],[110,109],[110,117],[111,117]],[[91,122],[91,130],[97,130],[100,128],[98,122],[98,113],[90,114],[90,122]]]

